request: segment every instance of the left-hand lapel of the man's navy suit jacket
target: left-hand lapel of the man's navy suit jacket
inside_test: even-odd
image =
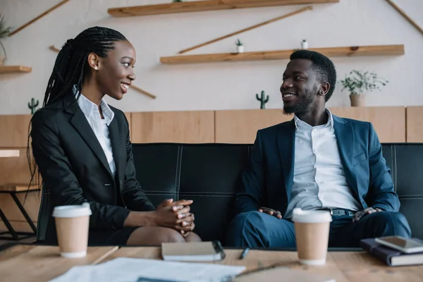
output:
[[[278,150],[281,157],[283,180],[285,183],[286,197],[290,202],[290,194],[294,181],[294,152],[295,152],[295,122],[283,124],[283,130],[278,133]]]

